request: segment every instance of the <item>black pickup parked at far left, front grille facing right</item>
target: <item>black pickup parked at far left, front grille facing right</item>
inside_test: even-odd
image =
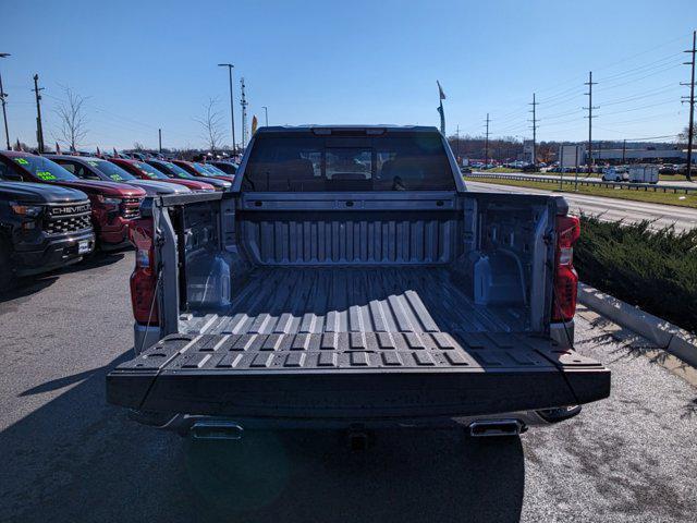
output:
[[[95,248],[87,195],[46,183],[9,182],[0,162],[0,290],[58,269]]]

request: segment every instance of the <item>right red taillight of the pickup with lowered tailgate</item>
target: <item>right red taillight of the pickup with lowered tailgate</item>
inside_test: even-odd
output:
[[[575,216],[557,217],[557,255],[552,321],[570,321],[576,313],[578,275],[574,269],[574,243],[580,236]]]

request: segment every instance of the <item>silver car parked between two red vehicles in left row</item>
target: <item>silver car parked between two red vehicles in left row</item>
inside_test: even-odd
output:
[[[162,194],[184,194],[191,191],[183,185],[158,182],[156,180],[140,180],[135,178],[125,169],[115,163],[94,156],[70,156],[70,155],[44,155],[53,160],[66,171],[75,174],[82,180],[103,180],[106,182],[127,183],[145,191],[146,197]]]

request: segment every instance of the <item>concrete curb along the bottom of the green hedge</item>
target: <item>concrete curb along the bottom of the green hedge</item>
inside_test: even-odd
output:
[[[578,302],[697,368],[697,336],[580,282]]]

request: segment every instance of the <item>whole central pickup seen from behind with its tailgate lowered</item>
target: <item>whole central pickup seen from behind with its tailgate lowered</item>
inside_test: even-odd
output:
[[[107,377],[140,423],[509,436],[609,396],[573,349],[578,219],[468,192],[436,127],[262,127],[231,192],[151,212],[132,231],[136,356]]]

